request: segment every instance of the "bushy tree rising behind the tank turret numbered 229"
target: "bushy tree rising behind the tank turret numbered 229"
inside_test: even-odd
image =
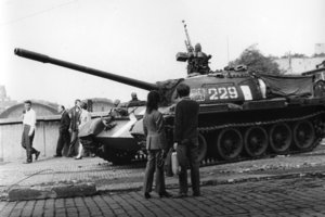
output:
[[[249,71],[268,74],[281,74],[278,64],[273,56],[264,56],[256,46],[250,46],[244,50],[238,59],[232,61],[230,66],[246,65]]]

